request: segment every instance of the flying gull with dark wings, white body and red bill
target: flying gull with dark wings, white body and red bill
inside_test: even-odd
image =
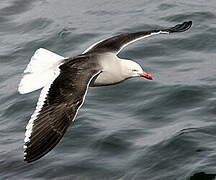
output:
[[[132,77],[153,79],[136,62],[118,57],[125,46],[156,34],[183,32],[191,25],[192,21],[187,21],[171,28],[123,33],[99,41],[70,58],[38,49],[18,87],[20,94],[42,88],[26,126],[24,161],[35,161],[58,144],[74,122],[89,86],[112,85]]]

